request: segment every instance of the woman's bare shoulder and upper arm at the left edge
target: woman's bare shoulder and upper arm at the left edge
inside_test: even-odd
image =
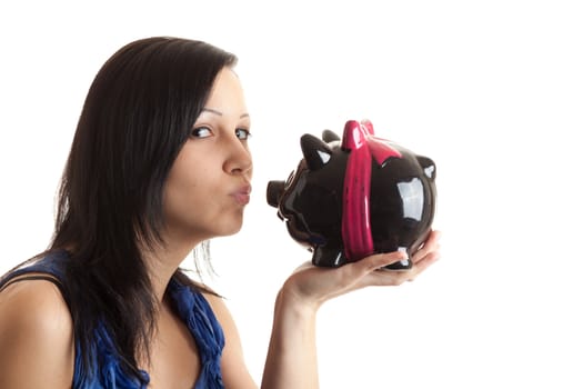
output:
[[[48,280],[13,282],[0,292],[0,388],[68,387],[73,326],[59,288]]]

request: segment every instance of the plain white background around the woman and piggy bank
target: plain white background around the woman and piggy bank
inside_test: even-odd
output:
[[[295,167],[302,133],[368,118],[436,162],[443,258],[415,282],[322,308],[321,387],[582,388],[577,3],[3,2],[0,271],[49,242],[103,61],[138,38],[207,40],[240,58],[255,162],[243,230],[212,242],[208,280],[228,298],[258,381],[277,290],[310,259],[265,184]]]

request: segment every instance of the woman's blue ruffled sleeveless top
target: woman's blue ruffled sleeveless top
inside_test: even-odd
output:
[[[18,269],[0,280],[1,288],[12,278],[30,272],[49,273],[62,282],[64,277],[63,262],[68,258],[66,251],[51,252],[34,265]],[[222,389],[221,353],[224,347],[224,335],[201,292],[180,283],[172,278],[167,289],[172,298],[180,319],[187,325],[192,338],[199,348],[201,360],[200,376],[193,389]],[[62,292],[62,289],[61,289]],[[68,297],[63,296],[67,300]],[[91,362],[96,372],[89,376],[79,352],[79,342],[76,341],[76,358],[73,388],[74,389],[147,389],[150,376],[140,371],[140,380],[128,377],[121,369],[120,356],[115,351],[105,327],[99,326],[93,337],[91,348],[97,350]]]

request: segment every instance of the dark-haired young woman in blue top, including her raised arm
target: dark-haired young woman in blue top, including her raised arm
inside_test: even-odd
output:
[[[50,247],[0,279],[0,388],[257,388],[222,299],[179,269],[238,232],[249,202],[251,122],[234,66],[201,41],[150,38],[98,72]],[[298,269],[277,297],[261,387],[316,388],[319,307],[414,279],[438,241],[406,272],[376,271],[398,252]]]

